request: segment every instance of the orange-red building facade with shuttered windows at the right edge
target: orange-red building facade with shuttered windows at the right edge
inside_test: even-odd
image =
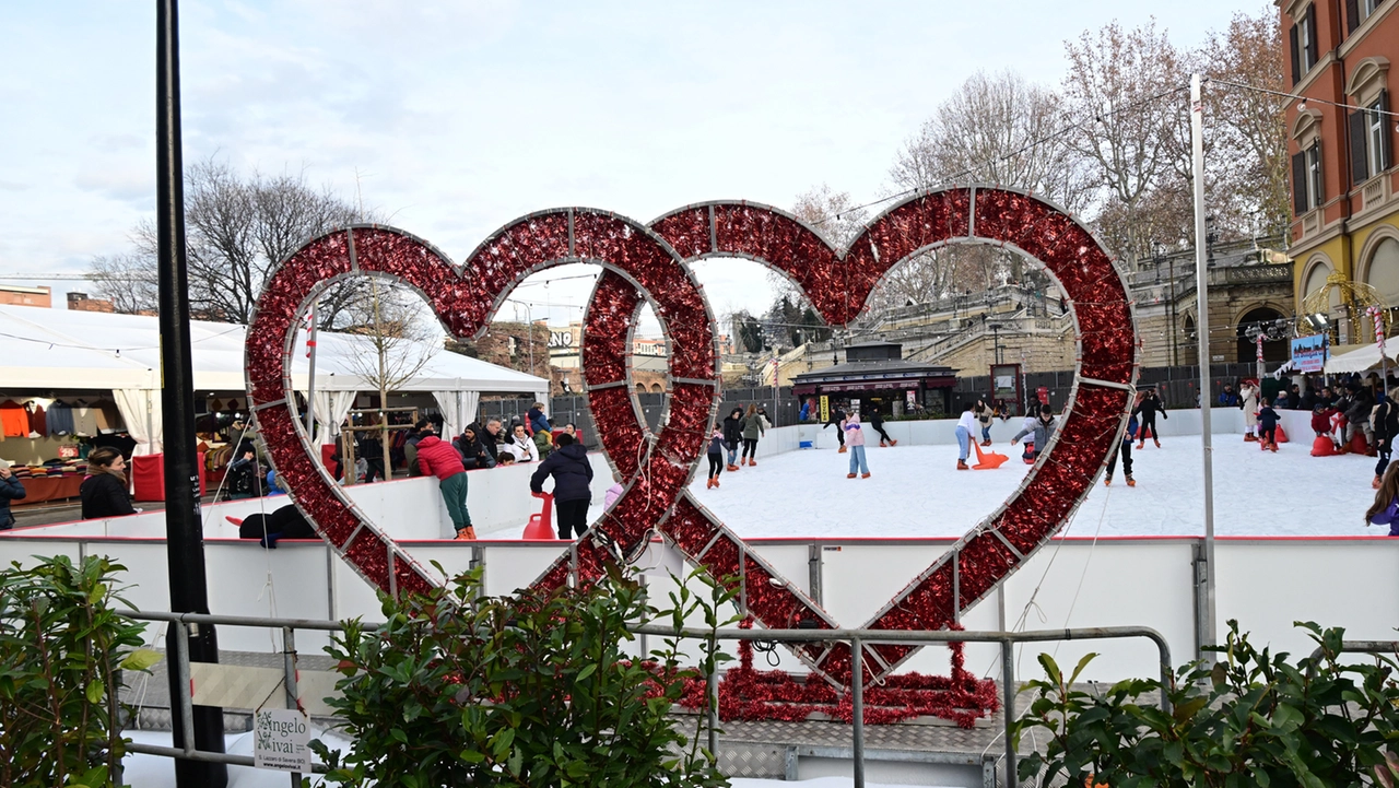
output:
[[[1399,307],[1399,171],[1389,67],[1399,60],[1399,0],[1277,0],[1293,92],[1294,308],[1328,277],[1365,283]],[[1336,281],[1336,280],[1333,280]],[[1370,342],[1333,290],[1335,342]]]

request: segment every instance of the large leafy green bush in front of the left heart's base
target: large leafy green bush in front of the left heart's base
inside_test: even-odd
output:
[[[694,575],[691,575],[694,577]],[[623,652],[628,624],[655,619],[646,589],[610,567],[588,589],[477,598],[480,574],[425,598],[381,596],[386,626],[350,621],[327,651],[343,693],[330,701],[353,738],[341,760],[312,749],[344,785],[727,785],[713,756],[676,728],[670,710],[695,670],[666,640],[653,662]],[[681,586],[665,613],[679,627],[730,595]],[[725,621],[727,623],[727,621]],[[706,642],[701,670],[727,655]],[[702,722],[702,718],[700,718]]]

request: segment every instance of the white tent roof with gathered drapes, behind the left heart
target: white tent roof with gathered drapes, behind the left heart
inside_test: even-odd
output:
[[[242,392],[246,328],[190,322],[196,391]],[[154,316],[78,312],[41,307],[0,305],[0,386],[17,391],[111,391],[137,453],[161,451],[159,323]],[[304,337],[297,347],[305,349]],[[515,393],[544,400],[548,381],[424,343],[395,349],[410,358],[427,357],[422,368],[396,392],[431,393],[453,434],[471,421],[481,393]],[[316,337],[316,424],[322,442],[344,420],[361,391],[376,391],[364,374],[374,358],[369,337],[320,333]],[[306,391],[308,360],[292,356],[292,385]]]

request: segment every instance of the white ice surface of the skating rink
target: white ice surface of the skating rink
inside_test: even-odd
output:
[[[1311,441],[1259,451],[1242,435],[1214,435],[1214,533],[1335,536],[1388,533],[1367,528],[1375,459],[1314,458]],[[803,449],[725,472],[718,490],[698,476],[690,490],[743,537],[961,536],[1010,495],[1031,466],[1020,446],[996,470],[956,470],[956,445],[866,446],[869,479],[846,479],[849,455]],[[972,455],[975,456],[975,455]],[[1136,487],[1100,480],[1079,508],[1074,536],[1198,536],[1205,533],[1200,437],[1133,444]],[[974,460],[972,460],[974,462]]]

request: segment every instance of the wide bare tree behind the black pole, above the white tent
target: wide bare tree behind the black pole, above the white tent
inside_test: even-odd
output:
[[[306,185],[305,174],[239,175],[208,158],[185,174],[186,258],[190,311],[196,318],[246,323],[273,266],[308,238],[372,216]],[[157,234],[143,221],[132,232],[134,251],[95,259],[90,279],[122,311],[151,308],[140,297],[155,291]],[[123,288],[139,288],[127,294]],[[372,311],[365,284],[339,283],[318,302],[323,329],[362,323]]]

